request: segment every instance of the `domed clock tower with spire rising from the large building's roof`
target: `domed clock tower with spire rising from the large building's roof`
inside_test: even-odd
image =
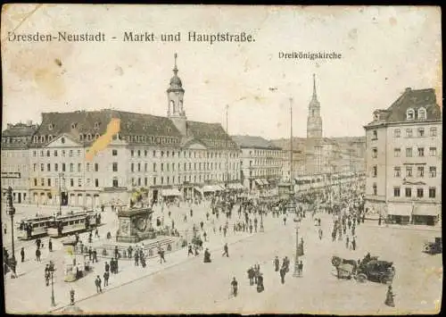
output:
[[[177,53],[174,54],[175,66],[173,68],[173,77],[170,79],[168,95],[168,118],[175,124],[179,132],[186,136],[186,112],[183,107],[183,97],[185,89],[183,83],[178,77]]]

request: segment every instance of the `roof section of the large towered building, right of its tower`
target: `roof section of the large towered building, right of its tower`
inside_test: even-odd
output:
[[[187,137],[192,137],[210,148],[238,147],[219,123],[186,121],[186,131]]]

